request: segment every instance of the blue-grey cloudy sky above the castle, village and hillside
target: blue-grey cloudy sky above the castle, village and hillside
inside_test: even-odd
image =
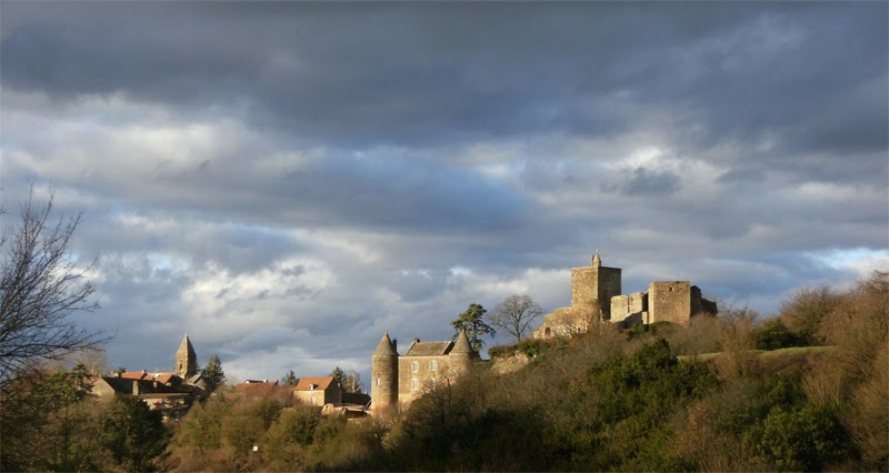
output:
[[[129,371],[368,380],[596,251],[768,316],[889,269],[888,8],[7,0],[3,229],[83,212]]]

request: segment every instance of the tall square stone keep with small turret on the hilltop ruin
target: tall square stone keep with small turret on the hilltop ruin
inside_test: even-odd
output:
[[[592,256],[592,264],[571,269],[571,306],[576,309],[599,309],[602,319],[611,318],[611,298],[620,295],[620,268],[602,265],[599,252]]]

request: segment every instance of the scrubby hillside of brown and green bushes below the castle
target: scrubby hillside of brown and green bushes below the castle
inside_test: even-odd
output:
[[[149,451],[101,433],[134,406],[72,399],[39,439],[73,450],[10,435],[4,411],[2,452],[30,442],[42,470],[887,471],[887,301],[889,275],[875,273],[847,291],[801,290],[761,322],[732,310],[689,326],[600,323],[526,340],[491,351],[530,355],[523,368],[479,363],[390,420],[217,395],[168,425],[171,437],[152,431]]]

